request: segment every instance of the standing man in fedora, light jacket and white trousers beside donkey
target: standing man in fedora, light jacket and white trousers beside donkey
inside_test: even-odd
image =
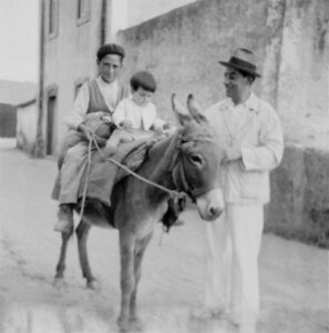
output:
[[[237,49],[225,67],[226,99],[206,111],[224,148],[222,185],[225,212],[206,224],[207,316],[223,315],[255,333],[259,315],[258,253],[264,204],[269,202],[269,171],[282,158],[284,139],[277,113],[253,92],[255,54]]]

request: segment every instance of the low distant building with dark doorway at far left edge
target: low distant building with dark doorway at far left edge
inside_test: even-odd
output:
[[[18,147],[32,150],[37,134],[37,85],[0,80],[0,137],[17,138]],[[29,105],[29,109],[27,109]],[[25,127],[25,122],[31,122]]]

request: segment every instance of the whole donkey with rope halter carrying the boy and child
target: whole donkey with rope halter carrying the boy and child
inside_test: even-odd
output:
[[[168,190],[185,192],[196,203],[201,218],[212,221],[224,210],[219,186],[223,154],[193,95],[187,98],[189,113],[176,101],[174,94],[172,105],[182,127],[150,149],[137,174]],[[93,220],[91,216],[100,212],[100,205],[91,203],[85,206],[83,219],[78,225],[80,264],[90,287],[95,287],[97,281],[89,265],[89,231],[92,225],[115,225],[119,229],[122,299],[117,325],[121,332],[142,329],[136,306],[142,260],[155,223],[166,212],[168,199],[167,191],[130,175],[121,180],[111,194],[107,220],[112,221],[104,225],[97,219]],[[70,235],[62,234],[56,284],[63,280],[69,238]]]

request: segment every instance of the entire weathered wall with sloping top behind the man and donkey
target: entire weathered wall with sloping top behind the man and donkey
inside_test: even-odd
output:
[[[203,108],[222,99],[218,60],[235,47],[256,51],[255,90],[276,107],[287,142],[266,230],[320,246],[329,246],[328,22],[327,0],[199,0],[117,36],[127,50],[124,79],[154,73],[165,119],[172,92],[181,100],[192,92]]]

